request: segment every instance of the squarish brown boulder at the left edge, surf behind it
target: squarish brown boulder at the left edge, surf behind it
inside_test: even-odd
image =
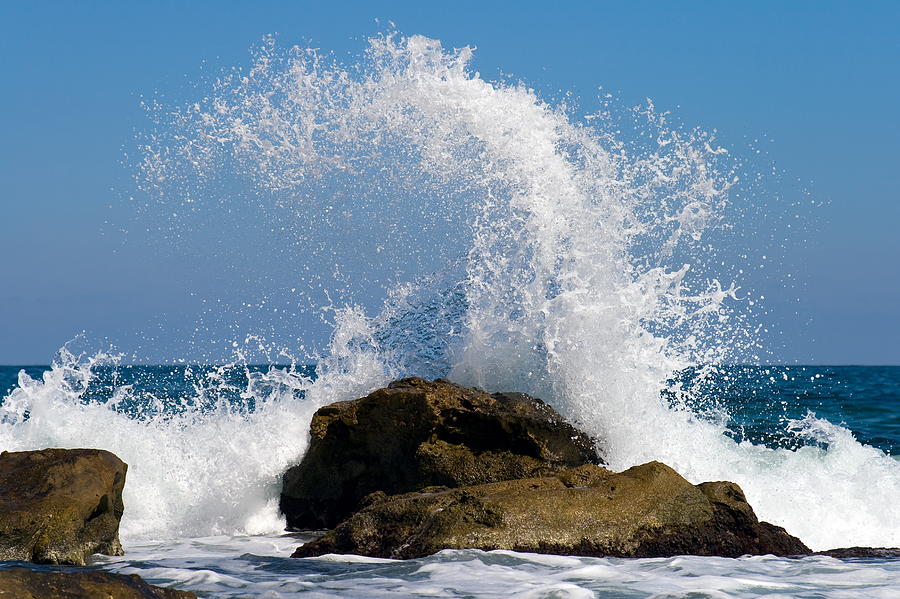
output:
[[[0,560],[84,565],[122,555],[128,466],[99,449],[0,454]]]

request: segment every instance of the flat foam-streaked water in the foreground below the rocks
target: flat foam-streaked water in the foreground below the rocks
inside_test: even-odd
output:
[[[828,557],[599,559],[467,550],[408,561],[333,555],[290,559],[296,544],[291,537],[191,539],[137,546],[131,563],[109,560],[106,567],[210,597],[284,599],[888,599],[897,596],[900,576],[900,560]]]

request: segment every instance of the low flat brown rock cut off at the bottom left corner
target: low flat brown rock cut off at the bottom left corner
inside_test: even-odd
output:
[[[0,599],[197,599],[187,591],[153,586],[131,574],[99,570],[42,572],[0,570]]]

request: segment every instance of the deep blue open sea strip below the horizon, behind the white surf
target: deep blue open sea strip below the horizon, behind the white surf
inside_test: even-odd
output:
[[[251,365],[225,369],[222,395],[240,401],[239,391],[247,387],[248,373],[269,368]],[[8,394],[20,371],[40,378],[47,370],[50,366],[0,366],[0,391]],[[315,366],[301,370],[315,377]],[[187,371],[190,376],[186,376]],[[106,401],[116,388],[128,385],[163,403],[174,403],[193,394],[194,382],[217,371],[209,366],[99,368],[84,399]],[[683,376],[690,379],[691,374]],[[704,386],[707,405],[724,409],[729,434],[736,440],[773,448],[793,446],[796,439],[784,434],[785,424],[813,412],[850,429],[860,443],[900,459],[900,366],[732,366],[722,368]],[[126,403],[120,409],[127,412],[136,408]]]

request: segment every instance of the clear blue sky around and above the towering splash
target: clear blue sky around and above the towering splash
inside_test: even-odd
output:
[[[898,6],[3,2],[0,364],[46,363],[82,330],[151,358],[191,358],[178,336],[201,309],[185,291],[201,275],[135,234],[122,192],[123,148],[146,126],[140,97],[177,98],[202,72],[246,65],[264,34],[343,55],[388,20],[477,47],[486,78],[512,73],[587,105],[602,85],[718,129],[734,148],[773,139],[767,160],[788,173],[775,192],[804,188],[825,203],[790,265],[805,285],[801,315],[796,290],[766,290],[785,330],[775,357],[898,364]]]

